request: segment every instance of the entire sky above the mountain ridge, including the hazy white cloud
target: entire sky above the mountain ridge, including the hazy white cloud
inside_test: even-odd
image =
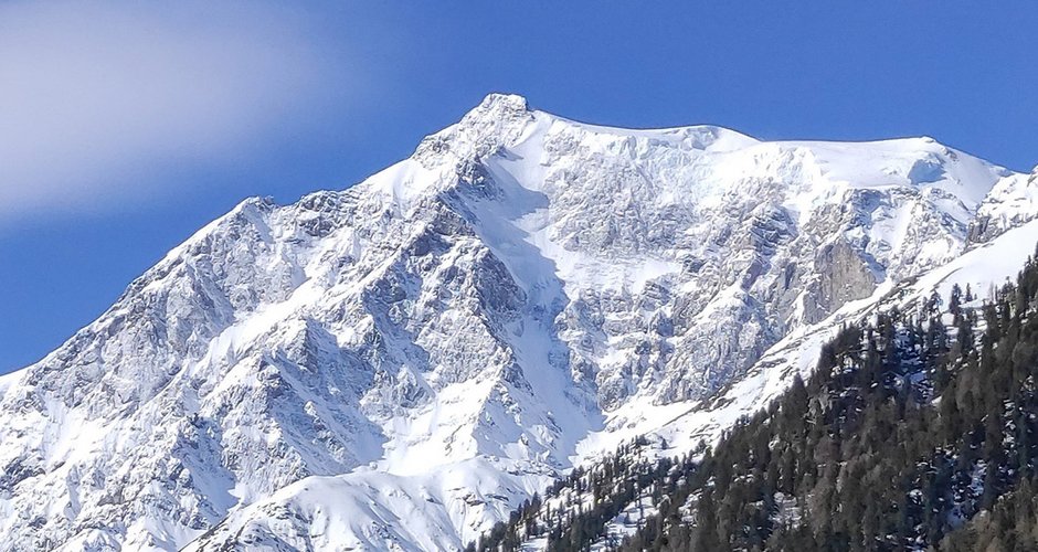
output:
[[[928,135],[1029,170],[1038,7],[991,6],[0,3],[0,372],[241,199],[347,188],[489,92],[617,126]]]

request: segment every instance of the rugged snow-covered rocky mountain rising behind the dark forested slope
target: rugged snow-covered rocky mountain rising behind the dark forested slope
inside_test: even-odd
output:
[[[0,379],[0,548],[458,548],[619,439],[716,436],[1036,188],[929,138],[488,96],[346,191],[243,202]]]

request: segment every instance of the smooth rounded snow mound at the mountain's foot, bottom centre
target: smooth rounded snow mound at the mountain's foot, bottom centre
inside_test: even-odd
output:
[[[308,477],[241,510],[187,546],[219,550],[458,550],[552,480],[517,463],[470,458],[432,474],[358,470]]]

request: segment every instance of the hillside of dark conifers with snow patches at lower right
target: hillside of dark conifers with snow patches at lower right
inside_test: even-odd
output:
[[[713,449],[628,445],[473,548],[1038,550],[1038,263],[984,295],[847,327]]]

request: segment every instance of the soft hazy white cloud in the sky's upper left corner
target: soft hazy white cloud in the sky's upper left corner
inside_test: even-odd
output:
[[[157,166],[246,151],[328,100],[332,57],[268,4],[0,4],[0,222],[169,193]]]

